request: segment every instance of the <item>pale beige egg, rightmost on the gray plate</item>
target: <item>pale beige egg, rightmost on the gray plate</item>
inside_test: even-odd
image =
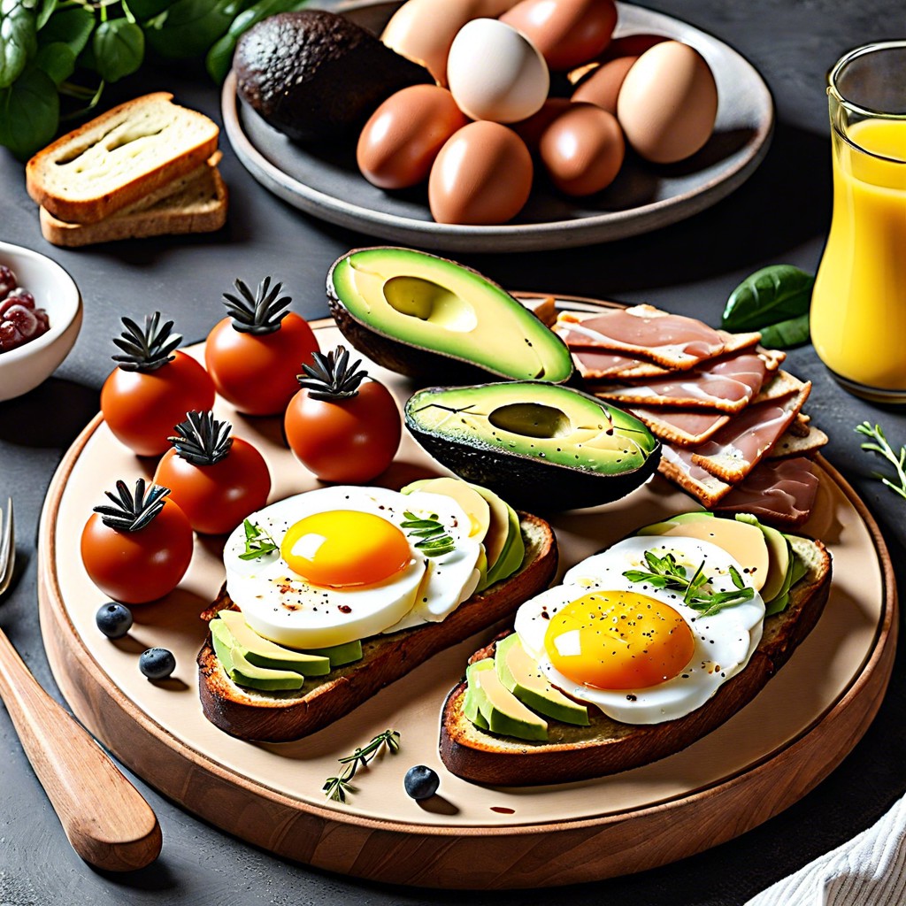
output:
[[[688,158],[711,136],[718,88],[701,54],[677,41],[655,44],[626,74],[617,119],[641,157],[667,164]]]

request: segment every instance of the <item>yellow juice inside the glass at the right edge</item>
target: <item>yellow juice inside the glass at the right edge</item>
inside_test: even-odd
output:
[[[834,216],[812,340],[840,377],[906,390],[906,120],[863,120],[846,134],[831,131]]]

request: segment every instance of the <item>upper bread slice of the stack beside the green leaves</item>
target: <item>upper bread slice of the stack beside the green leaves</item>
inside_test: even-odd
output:
[[[38,151],[25,188],[54,217],[97,223],[201,166],[217,124],[154,92],[114,107]]]

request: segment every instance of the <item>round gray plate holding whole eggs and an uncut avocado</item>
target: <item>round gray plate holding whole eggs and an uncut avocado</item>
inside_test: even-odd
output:
[[[349,6],[344,14],[380,31],[400,3]],[[224,83],[226,135],[265,188],[313,217],[400,244],[448,252],[525,252],[587,246],[648,233],[699,213],[751,176],[774,129],[774,103],[755,67],[727,44],[669,15],[617,4],[617,35],[665,34],[695,47],[718,84],[718,118],[708,144],[679,164],[656,167],[627,157],[612,185],[567,198],[535,180],[528,204],[502,226],[435,223],[424,187],[385,192],[361,176],[355,142],[304,147],[268,126]]]

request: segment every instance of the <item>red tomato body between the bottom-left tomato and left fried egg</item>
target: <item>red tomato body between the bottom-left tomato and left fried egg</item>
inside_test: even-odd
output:
[[[267,503],[271,475],[265,458],[250,443],[234,438],[225,458],[196,466],[170,448],[160,459],[154,483],[170,489],[197,532],[231,532],[250,513]]]

